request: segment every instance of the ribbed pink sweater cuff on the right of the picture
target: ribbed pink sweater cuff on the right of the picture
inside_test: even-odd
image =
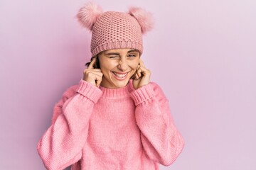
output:
[[[152,84],[146,84],[145,86],[140,87],[137,90],[132,91],[130,94],[134,100],[135,106],[138,106],[140,103],[152,98],[154,95],[154,90]]]

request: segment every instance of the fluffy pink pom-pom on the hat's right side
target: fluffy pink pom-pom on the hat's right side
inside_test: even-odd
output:
[[[142,34],[148,32],[153,28],[154,22],[152,14],[144,11],[142,8],[131,7],[128,12],[131,16],[137,19],[139,25],[142,28]]]

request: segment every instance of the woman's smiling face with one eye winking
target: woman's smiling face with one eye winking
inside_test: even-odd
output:
[[[139,51],[134,49],[106,50],[98,55],[103,73],[101,86],[109,89],[124,87],[139,65]]]

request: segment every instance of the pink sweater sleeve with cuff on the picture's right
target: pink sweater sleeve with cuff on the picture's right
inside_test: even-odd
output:
[[[169,166],[184,146],[183,137],[174,125],[169,101],[154,83],[133,91],[131,96],[136,105],[135,118],[146,156]]]

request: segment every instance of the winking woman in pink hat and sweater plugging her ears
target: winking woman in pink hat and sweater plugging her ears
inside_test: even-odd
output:
[[[92,30],[92,60],[83,79],[55,105],[52,125],[38,143],[47,169],[159,169],[183,149],[169,102],[150,82],[142,62],[142,34],[150,14],[102,12],[87,4],[78,13]]]

